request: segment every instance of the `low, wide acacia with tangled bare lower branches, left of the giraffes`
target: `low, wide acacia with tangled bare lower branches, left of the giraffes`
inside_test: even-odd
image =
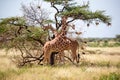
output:
[[[0,20],[0,48],[17,50],[12,58],[17,66],[39,63],[46,37],[45,31],[39,27],[28,26],[23,17]]]

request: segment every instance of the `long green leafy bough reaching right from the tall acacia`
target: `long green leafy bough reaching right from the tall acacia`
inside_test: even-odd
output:
[[[81,19],[90,23],[92,21],[99,21],[108,24],[111,21],[111,18],[104,14],[105,11],[92,12],[88,8],[88,4],[83,6],[67,7],[60,15],[72,17],[74,19]]]

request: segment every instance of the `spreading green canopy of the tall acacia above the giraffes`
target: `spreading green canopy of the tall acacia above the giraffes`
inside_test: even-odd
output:
[[[83,5],[71,5],[73,0],[44,0],[51,2],[51,6],[57,10],[57,16],[68,16],[73,19],[80,19],[88,23],[93,23],[94,21],[99,23],[103,22],[107,25],[111,25],[111,18],[108,15],[105,15],[105,11],[97,10],[95,12],[89,9],[89,2]],[[71,2],[71,3],[69,3]],[[62,5],[62,11],[56,6]]]

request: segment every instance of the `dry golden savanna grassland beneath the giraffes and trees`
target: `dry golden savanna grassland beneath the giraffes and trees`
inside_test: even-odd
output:
[[[79,66],[69,62],[18,68],[11,61],[13,54],[0,50],[0,80],[120,80],[120,47],[89,47]]]

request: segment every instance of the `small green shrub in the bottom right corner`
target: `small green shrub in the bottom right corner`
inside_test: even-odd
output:
[[[99,80],[120,80],[120,73],[110,73],[109,75],[102,75]]]

